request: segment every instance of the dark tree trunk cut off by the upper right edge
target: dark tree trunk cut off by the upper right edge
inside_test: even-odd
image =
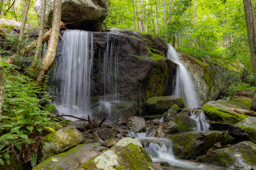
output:
[[[244,1],[244,12],[246,20],[247,35],[249,41],[252,69],[256,83],[256,23],[252,0]]]

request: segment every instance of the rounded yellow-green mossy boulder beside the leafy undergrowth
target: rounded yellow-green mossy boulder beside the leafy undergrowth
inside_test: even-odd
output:
[[[48,134],[41,141],[42,149],[39,153],[39,160],[42,162],[50,156],[75,147],[81,144],[84,139],[84,134],[78,131],[74,126],[68,126]]]

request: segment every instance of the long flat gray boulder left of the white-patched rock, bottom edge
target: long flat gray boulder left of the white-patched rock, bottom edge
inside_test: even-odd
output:
[[[44,162],[33,168],[33,170],[76,169],[82,163],[98,154],[101,154],[101,152],[105,149],[107,149],[107,147],[100,145],[100,143],[78,145],[77,147],[71,148],[66,152],[62,152],[61,154],[54,155],[46,159]]]

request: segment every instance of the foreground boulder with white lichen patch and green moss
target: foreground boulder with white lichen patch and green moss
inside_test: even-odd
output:
[[[77,170],[90,169],[145,169],[153,170],[151,158],[139,140],[123,138],[112,148],[88,160]]]

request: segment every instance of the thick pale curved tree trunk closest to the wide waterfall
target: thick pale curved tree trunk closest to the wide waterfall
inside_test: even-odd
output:
[[[59,41],[60,33],[60,18],[61,18],[61,0],[54,1],[52,32],[49,40],[47,52],[42,60],[42,66],[39,68],[39,73],[36,81],[40,82],[55,60],[56,49]]]

